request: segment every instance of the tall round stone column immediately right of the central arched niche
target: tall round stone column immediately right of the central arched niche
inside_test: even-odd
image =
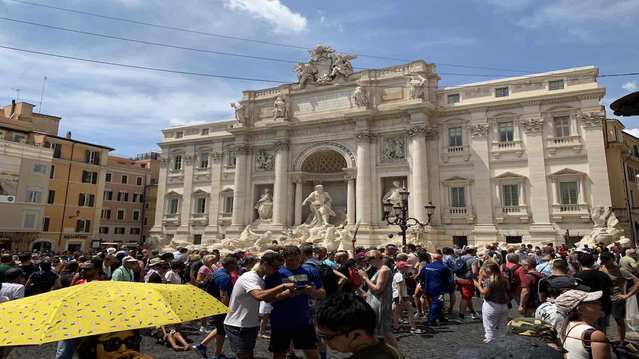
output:
[[[362,220],[362,224],[370,225],[371,220],[371,141],[377,135],[369,132],[359,132],[355,134],[357,140],[357,183],[355,192],[356,221]],[[347,209],[348,211],[348,209]]]

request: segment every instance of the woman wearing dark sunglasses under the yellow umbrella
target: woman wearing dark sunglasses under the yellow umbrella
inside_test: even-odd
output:
[[[140,333],[137,330],[93,335],[78,346],[79,359],[154,359],[140,354]]]

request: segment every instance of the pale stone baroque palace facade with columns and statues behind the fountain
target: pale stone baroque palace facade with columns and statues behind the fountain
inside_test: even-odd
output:
[[[314,221],[318,184],[328,221],[360,220],[373,244],[399,230],[381,204],[398,185],[410,217],[435,204],[422,239],[436,246],[576,240],[590,208],[611,206],[596,67],[440,88],[422,60],[353,72],[356,56],[309,52],[298,82],[244,91],[235,119],[162,131],[151,235],[197,245],[251,225],[277,239]]]

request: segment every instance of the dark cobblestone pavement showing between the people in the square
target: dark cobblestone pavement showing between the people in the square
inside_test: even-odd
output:
[[[448,296],[446,296],[448,297]],[[459,293],[458,293],[459,298]],[[482,301],[479,298],[473,298],[473,304],[475,309],[479,311],[481,309]],[[516,311],[516,308],[512,309],[509,313],[509,320],[520,316]],[[403,325],[402,329],[406,332],[397,333],[397,340],[399,340],[399,347],[404,353],[407,359],[451,359],[456,358],[456,353],[459,349],[468,345],[482,344],[484,339],[484,327],[482,326],[481,319],[470,319],[470,313],[466,313],[465,324],[458,324],[450,321],[447,325],[429,327],[426,326],[425,319],[417,319],[418,328],[426,330],[423,334],[411,334],[408,331],[410,329],[408,325]],[[613,322],[614,323],[614,322]],[[204,335],[197,332],[185,332],[189,340],[199,342],[203,339]],[[629,332],[630,333],[630,332]],[[608,334],[612,338],[617,338],[617,328],[613,326],[609,328]],[[215,349],[215,341],[209,344],[209,351],[212,355]],[[9,359],[49,359],[55,357],[56,344],[45,344],[39,347],[25,347],[13,349],[9,355]],[[224,344],[224,352],[228,352],[227,343]],[[142,353],[146,355],[154,356],[157,359],[164,358],[184,358],[184,359],[198,359],[200,358],[196,353],[192,351],[175,352],[173,349],[165,348],[159,344],[155,344],[153,340],[144,336],[142,340]],[[270,359],[271,353],[268,352],[268,339],[258,339],[256,345],[256,358],[258,359]],[[297,351],[298,356],[302,356],[301,351]],[[328,351],[328,358],[346,358],[348,355],[342,355],[335,353],[334,351]]]

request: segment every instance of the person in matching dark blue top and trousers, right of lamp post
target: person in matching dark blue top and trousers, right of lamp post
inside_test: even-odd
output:
[[[428,314],[428,325],[437,325],[437,319],[443,318],[439,297],[450,288],[450,271],[442,264],[442,255],[433,254],[433,262],[422,267],[419,279],[424,283],[424,293],[431,294],[433,305]]]

